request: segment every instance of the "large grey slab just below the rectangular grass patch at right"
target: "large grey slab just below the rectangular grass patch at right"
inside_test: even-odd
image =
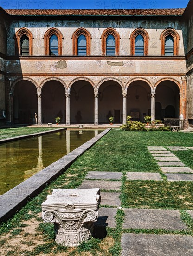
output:
[[[187,229],[180,219],[178,210],[137,208],[123,210],[125,212],[123,229]]]

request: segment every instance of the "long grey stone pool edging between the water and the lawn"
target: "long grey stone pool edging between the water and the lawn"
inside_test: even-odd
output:
[[[39,194],[48,183],[62,174],[78,156],[91,148],[110,130],[111,128],[104,130],[90,141],[85,142],[82,146],[71,151],[68,155],[64,155],[39,173],[7,191],[5,194],[0,195],[0,222],[12,217],[29,199]]]

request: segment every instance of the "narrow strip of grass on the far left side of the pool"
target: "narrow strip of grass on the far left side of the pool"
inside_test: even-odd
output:
[[[57,127],[16,127],[0,129],[0,140],[54,129],[57,129]]]

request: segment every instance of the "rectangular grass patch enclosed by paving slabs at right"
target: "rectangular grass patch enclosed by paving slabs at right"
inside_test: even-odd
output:
[[[122,207],[193,209],[193,182],[127,181]]]

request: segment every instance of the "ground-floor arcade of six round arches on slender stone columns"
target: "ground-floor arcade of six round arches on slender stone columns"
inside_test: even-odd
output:
[[[116,78],[105,78],[97,85],[89,79],[75,79],[67,86],[58,78],[47,79],[39,86],[26,79],[17,81],[10,94],[10,115],[15,124],[55,123],[57,116],[64,124],[105,124],[109,117],[124,123],[127,115],[133,121],[179,118],[184,105],[180,100],[180,83],[161,79],[154,87],[141,78],[125,86]]]

